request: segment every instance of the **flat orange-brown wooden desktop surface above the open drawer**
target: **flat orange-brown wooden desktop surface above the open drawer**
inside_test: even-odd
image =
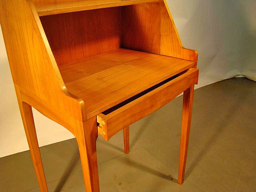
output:
[[[118,49],[59,66],[70,93],[97,115],[117,103],[195,65],[157,54]]]

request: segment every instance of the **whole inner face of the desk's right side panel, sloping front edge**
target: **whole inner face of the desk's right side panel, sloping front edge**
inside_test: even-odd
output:
[[[197,62],[182,46],[165,0],[123,7],[123,47]]]

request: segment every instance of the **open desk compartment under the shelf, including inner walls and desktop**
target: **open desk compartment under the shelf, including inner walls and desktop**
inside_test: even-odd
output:
[[[40,19],[67,90],[90,115],[196,65],[163,0]]]

